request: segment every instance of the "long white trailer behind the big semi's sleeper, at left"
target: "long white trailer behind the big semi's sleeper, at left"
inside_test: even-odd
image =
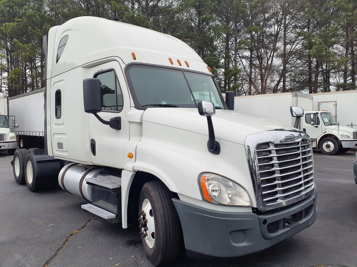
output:
[[[9,114],[15,116],[20,148],[44,148],[45,88],[9,98]]]

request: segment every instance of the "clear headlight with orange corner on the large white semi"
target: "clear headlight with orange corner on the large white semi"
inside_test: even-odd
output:
[[[239,184],[213,173],[202,173],[198,177],[203,199],[210,203],[251,206],[248,193]]]

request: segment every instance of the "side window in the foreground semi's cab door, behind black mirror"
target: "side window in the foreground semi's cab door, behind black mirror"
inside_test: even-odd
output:
[[[123,96],[114,70],[100,73],[95,78],[100,80],[102,110],[121,111],[123,109]]]

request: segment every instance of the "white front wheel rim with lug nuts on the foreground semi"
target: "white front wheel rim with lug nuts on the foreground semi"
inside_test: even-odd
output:
[[[139,230],[141,237],[145,238],[146,245],[149,248],[154,247],[155,221],[149,199],[142,201],[141,211],[139,213]]]

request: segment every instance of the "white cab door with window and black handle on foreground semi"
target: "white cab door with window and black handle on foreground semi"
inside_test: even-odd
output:
[[[89,143],[91,162],[97,165],[124,168],[128,161],[126,145],[129,141],[130,111],[129,91],[122,68],[117,61],[101,64],[90,69],[90,78],[98,78],[101,87],[102,111],[98,115],[106,121],[120,117],[121,130],[102,124],[89,114]]]

